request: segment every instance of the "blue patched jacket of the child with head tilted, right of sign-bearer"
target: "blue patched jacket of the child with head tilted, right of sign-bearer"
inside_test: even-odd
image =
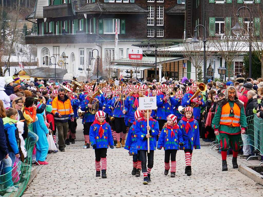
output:
[[[168,149],[179,150],[179,143],[181,142],[183,142],[183,137],[182,137],[182,132],[180,131],[179,128],[168,129],[167,127],[165,127],[161,130],[157,148],[164,147],[164,150],[168,150]]]

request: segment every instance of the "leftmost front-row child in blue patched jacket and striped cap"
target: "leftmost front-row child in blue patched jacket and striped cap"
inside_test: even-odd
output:
[[[103,179],[107,178],[107,149],[109,146],[111,149],[114,148],[112,131],[110,129],[110,125],[105,121],[105,117],[105,112],[96,112],[95,120],[89,130],[90,142],[95,150],[96,177],[100,176],[101,169]]]

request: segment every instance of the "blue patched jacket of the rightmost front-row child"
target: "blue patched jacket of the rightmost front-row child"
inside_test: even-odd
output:
[[[180,149],[200,149],[198,121],[193,119],[192,122],[189,122],[191,128],[188,130],[188,132],[186,132],[185,129],[186,123],[187,121],[185,121],[184,119],[181,119],[178,123],[184,140],[184,146],[180,147]]]

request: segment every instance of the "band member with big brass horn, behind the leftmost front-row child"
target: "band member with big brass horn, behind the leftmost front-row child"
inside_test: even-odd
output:
[[[91,99],[93,95],[93,91],[89,90],[87,97],[82,101],[81,103],[81,110],[85,112],[83,118],[82,118],[82,124],[84,127],[83,130],[83,134],[84,134],[84,140],[85,140],[85,144],[84,144],[84,149],[89,148],[90,147],[90,138],[89,138],[89,128],[92,125],[92,123],[94,122],[95,119],[95,114],[91,114],[89,112],[89,108],[92,107],[91,104],[89,104],[89,100]],[[94,99],[99,101],[99,107],[102,108],[102,103],[99,100],[99,97],[95,97]]]

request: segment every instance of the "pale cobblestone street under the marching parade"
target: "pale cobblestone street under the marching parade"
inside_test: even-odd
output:
[[[79,124],[80,125],[80,124]],[[79,126],[82,127],[81,125]],[[80,137],[81,129],[78,129]],[[221,171],[221,155],[210,147],[193,151],[192,176],[184,174],[183,151],[176,155],[176,177],[165,176],[164,151],[156,150],[152,182],[142,185],[143,177],[131,175],[132,157],[128,151],[108,149],[107,179],[95,177],[95,154],[92,148],[83,149],[84,142],[66,147],[65,152],[49,154],[49,165],[41,166],[36,178],[24,192],[26,196],[262,196],[262,185],[232,168]],[[259,161],[238,159],[239,165],[259,164]],[[254,190],[252,190],[254,189]]]

